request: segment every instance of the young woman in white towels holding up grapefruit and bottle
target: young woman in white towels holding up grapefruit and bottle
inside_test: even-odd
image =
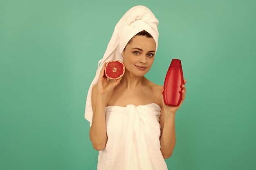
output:
[[[131,15],[134,21],[124,24]],[[98,170],[167,170],[164,159],[171,157],[175,146],[175,113],[185,99],[186,88],[182,85],[180,106],[166,106],[163,87],[144,77],[157,51],[157,24],[148,8],[130,9],[112,35],[116,40],[115,32],[123,33],[117,38],[118,45],[109,53],[108,49],[113,49],[110,41],[105,53],[107,60],[111,55],[111,59],[121,57],[126,67],[124,76],[108,82],[104,76],[105,60],[99,67],[97,84],[92,85],[91,95],[88,93],[92,117],[86,116],[86,110],[85,117],[91,123],[92,145],[99,150]],[[128,35],[124,31],[137,33]]]

